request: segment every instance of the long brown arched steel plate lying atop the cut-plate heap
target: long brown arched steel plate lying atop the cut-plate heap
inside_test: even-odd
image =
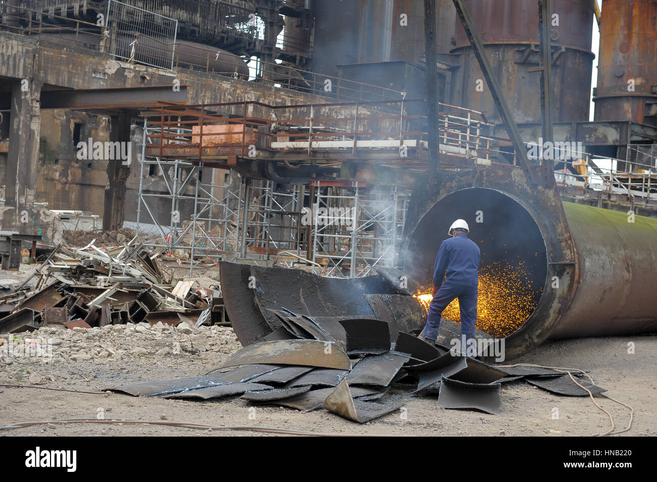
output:
[[[252,363],[351,370],[351,361],[344,351],[334,343],[317,340],[275,340],[252,344],[235,353],[219,368]]]

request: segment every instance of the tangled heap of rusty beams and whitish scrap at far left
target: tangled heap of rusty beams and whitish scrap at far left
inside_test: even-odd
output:
[[[81,249],[56,247],[20,287],[0,294],[0,332],[53,324],[210,323],[220,298],[210,289],[197,289],[193,280],[162,273],[157,256],[133,242],[105,251],[93,242]]]

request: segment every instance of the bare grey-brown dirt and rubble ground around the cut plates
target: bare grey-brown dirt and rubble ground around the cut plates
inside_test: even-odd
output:
[[[178,268],[181,274],[184,268]],[[26,272],[0,273],[24,277]],[[199,273],[208,285],[213,270]],[[230,328],[127,325],[102,329],[39,329],[32,339],[52,339],[52,357],[11,356],[3,348],[20,340],[0,335],[0,384],[20,384],[88,392],[127,382],[147,382],[205,374],[239,350]],[[19,338],[27,338],[22,334]],[[628,343],[635,344],[629,354]],[[633,426],[620,436],[657,435],[657,335],[582,338],[546,342],[509,363],[574,367],[591,372],[595,382],[635,409]],[[16,355],[16,351],[14,351]],[[563,397],[526,382],[503,384],[501,412],[445,410],[437,395],[408,397],[405,410],[357,424],[323,409],[300,412],[287,407],[250,405],[238,397],[217,401],[167,400],[119,393],[72,393],[0,386],[0,426],[56,418],[131,418],[173,420],[221,426],[260,426],[309,432],[371,435],[592,435],[606,432],[608,416],[589,397]],[[397,392],[399,393],[399,392]],[[627,426],[629,409],[604,397],[598,403]],[[255,410],[252,409],[255,407]],[[554,418],[558,409],[558,418]],[[2,431],[0,435],[271,435],[237,430],[194,430],[153,425],[70,424]]]

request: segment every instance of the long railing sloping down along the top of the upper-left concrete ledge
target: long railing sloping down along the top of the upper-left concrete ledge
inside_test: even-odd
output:
[[[187,43],[185,52],[181,52],[179,49],[181,43],[176,41],[175,37],[174,41],[167,41],[167,38],[170,38],[171,29],[165,32],[166,35],[160,30],[153,29],[151,29],[152,31],[135,31],[135,28],[127,28],[121,22],[114,22],[112,18],[108,20],[109,23],[103,26],[45,13],[41,10],[0,4],[0,32],[38,35],[45,41],[111,54],[128,63],[144,64],[167,70],[183,68],[200,70],[318,95],[334,101],[398,100],[402,98],[402,93],[397,90],[305,71],[288,64],[265,62],[261,59],[242,59],[245,66],[246,61],[254,63],[253,68],[250,68],[250,73],[246,75],[239,71],[244,69],[237,68],[240,64],[229,68],[227,66],[231,64],[230,62],[219,61],[219,56],[226,54],[219,49]],[[159,35],[158,32],[162,35]]]

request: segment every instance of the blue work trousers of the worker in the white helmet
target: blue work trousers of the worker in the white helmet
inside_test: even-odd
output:
[[[447,281],[443,283],[429,304],[429,313],[422,336],[436,341],[443,310],[455,298],[459,298],[459,308],[461,308],[461,340],[467,343],[468,339],[474,338],[474,325],[477,321],[477,287],[453,285]]]

